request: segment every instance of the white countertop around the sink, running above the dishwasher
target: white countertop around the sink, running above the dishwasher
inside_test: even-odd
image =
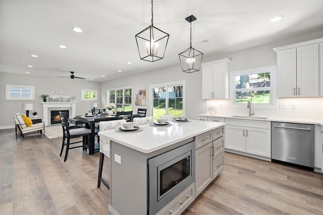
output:
[[[222,115],[222,114],[198,114],[199,117],[219,117],[219,118],[229,118],[229,119],[240,119],[240,120],[260,120],[260,121],[270,121],[270,122],[285,122],[285,123],[301,123],[301,124],[318,124],[323,126],[323,120],[320,119],[291,119],[291,118],[275,118],[268,117],[267,119],[257,119],[257,118],[240,118],[232,117],[234,115]],[[257,116],[255,116],[257,117]],[[259,116],[263,117],[263,116]]]

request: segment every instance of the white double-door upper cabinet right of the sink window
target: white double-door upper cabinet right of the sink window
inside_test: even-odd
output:
[[[278,97],[319,96],[318,41],[320,39],[274,48]]]

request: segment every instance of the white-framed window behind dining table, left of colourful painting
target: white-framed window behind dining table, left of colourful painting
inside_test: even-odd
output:
[[[115,103],[117,111],[132,111],[132,88],[107,90],[109,103]]]

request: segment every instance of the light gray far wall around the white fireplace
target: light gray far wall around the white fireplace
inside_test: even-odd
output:
[[[43,119],[41,94],[48,95],[70,95],[75,96],[76,115],[84,115],[92,106],[92,102],[100,103],[100,83],[93,81],[69,79],[69,78],[48,78],[33,75],[20,75],[13,73],[0,72],[1,95],[0,95],[0,129],[12,128],[14,124],[14,115],[16,113],[25,113],[21,110],[22,103],[32,103],[34,110],[38,113],[38,118]],[[6,100],[6,84],[35,86],[35,100]],[[82,101],[81,89],[93,89],[98,91],[97,101]],[[51,93],[56,91],[56,93]],[[62,92],[62,94],[61,94]],[[48,100],[47,100],[48,101]]]

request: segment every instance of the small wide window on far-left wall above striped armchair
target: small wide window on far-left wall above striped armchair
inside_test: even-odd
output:
[[[6,100],[35,100],[35,86],[6,84]]]

